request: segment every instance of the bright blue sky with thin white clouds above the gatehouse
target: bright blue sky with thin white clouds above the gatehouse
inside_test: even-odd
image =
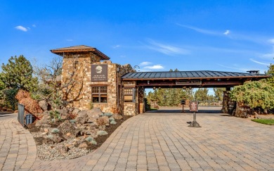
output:
[[[141,71],[268,70],[274,63],[274,1],[0,2],[0,63],[87,45]]]

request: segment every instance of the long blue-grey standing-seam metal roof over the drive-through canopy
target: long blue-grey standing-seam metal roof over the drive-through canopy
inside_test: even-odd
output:
[[[173,72],[129,72],[122,76],[123,80],[167,80],[167,79],[207,79],[218,77],[268,77],[268,75],[247,72],[222,72],[211,70],[173,71]]]

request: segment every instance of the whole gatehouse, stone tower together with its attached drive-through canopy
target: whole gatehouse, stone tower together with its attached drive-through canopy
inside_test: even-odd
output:
[[[226,87],[229,91],[230,87],[246,81],[268,77],[254,71],[136,72],[131,65],[112,63],[98,49],[84,45],[53,49],[51,52],[63,57],[61,84],[67,84],[63,93],[70,105],[80,109],[93,106],[104,113],[143,113],[145,88]],[[224,111],[229,106],[227,91],[224,92]]]

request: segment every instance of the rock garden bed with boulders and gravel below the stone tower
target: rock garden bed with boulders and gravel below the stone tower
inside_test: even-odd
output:
[[[92,110],[47,111],[28,125],[41,160],[63,160],[84,156],[100,147],[110,134],[131,116]]]

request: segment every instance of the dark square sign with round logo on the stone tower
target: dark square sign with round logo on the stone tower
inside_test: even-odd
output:
[[[107,65],[91,65],[91,82],[107,82]]]

